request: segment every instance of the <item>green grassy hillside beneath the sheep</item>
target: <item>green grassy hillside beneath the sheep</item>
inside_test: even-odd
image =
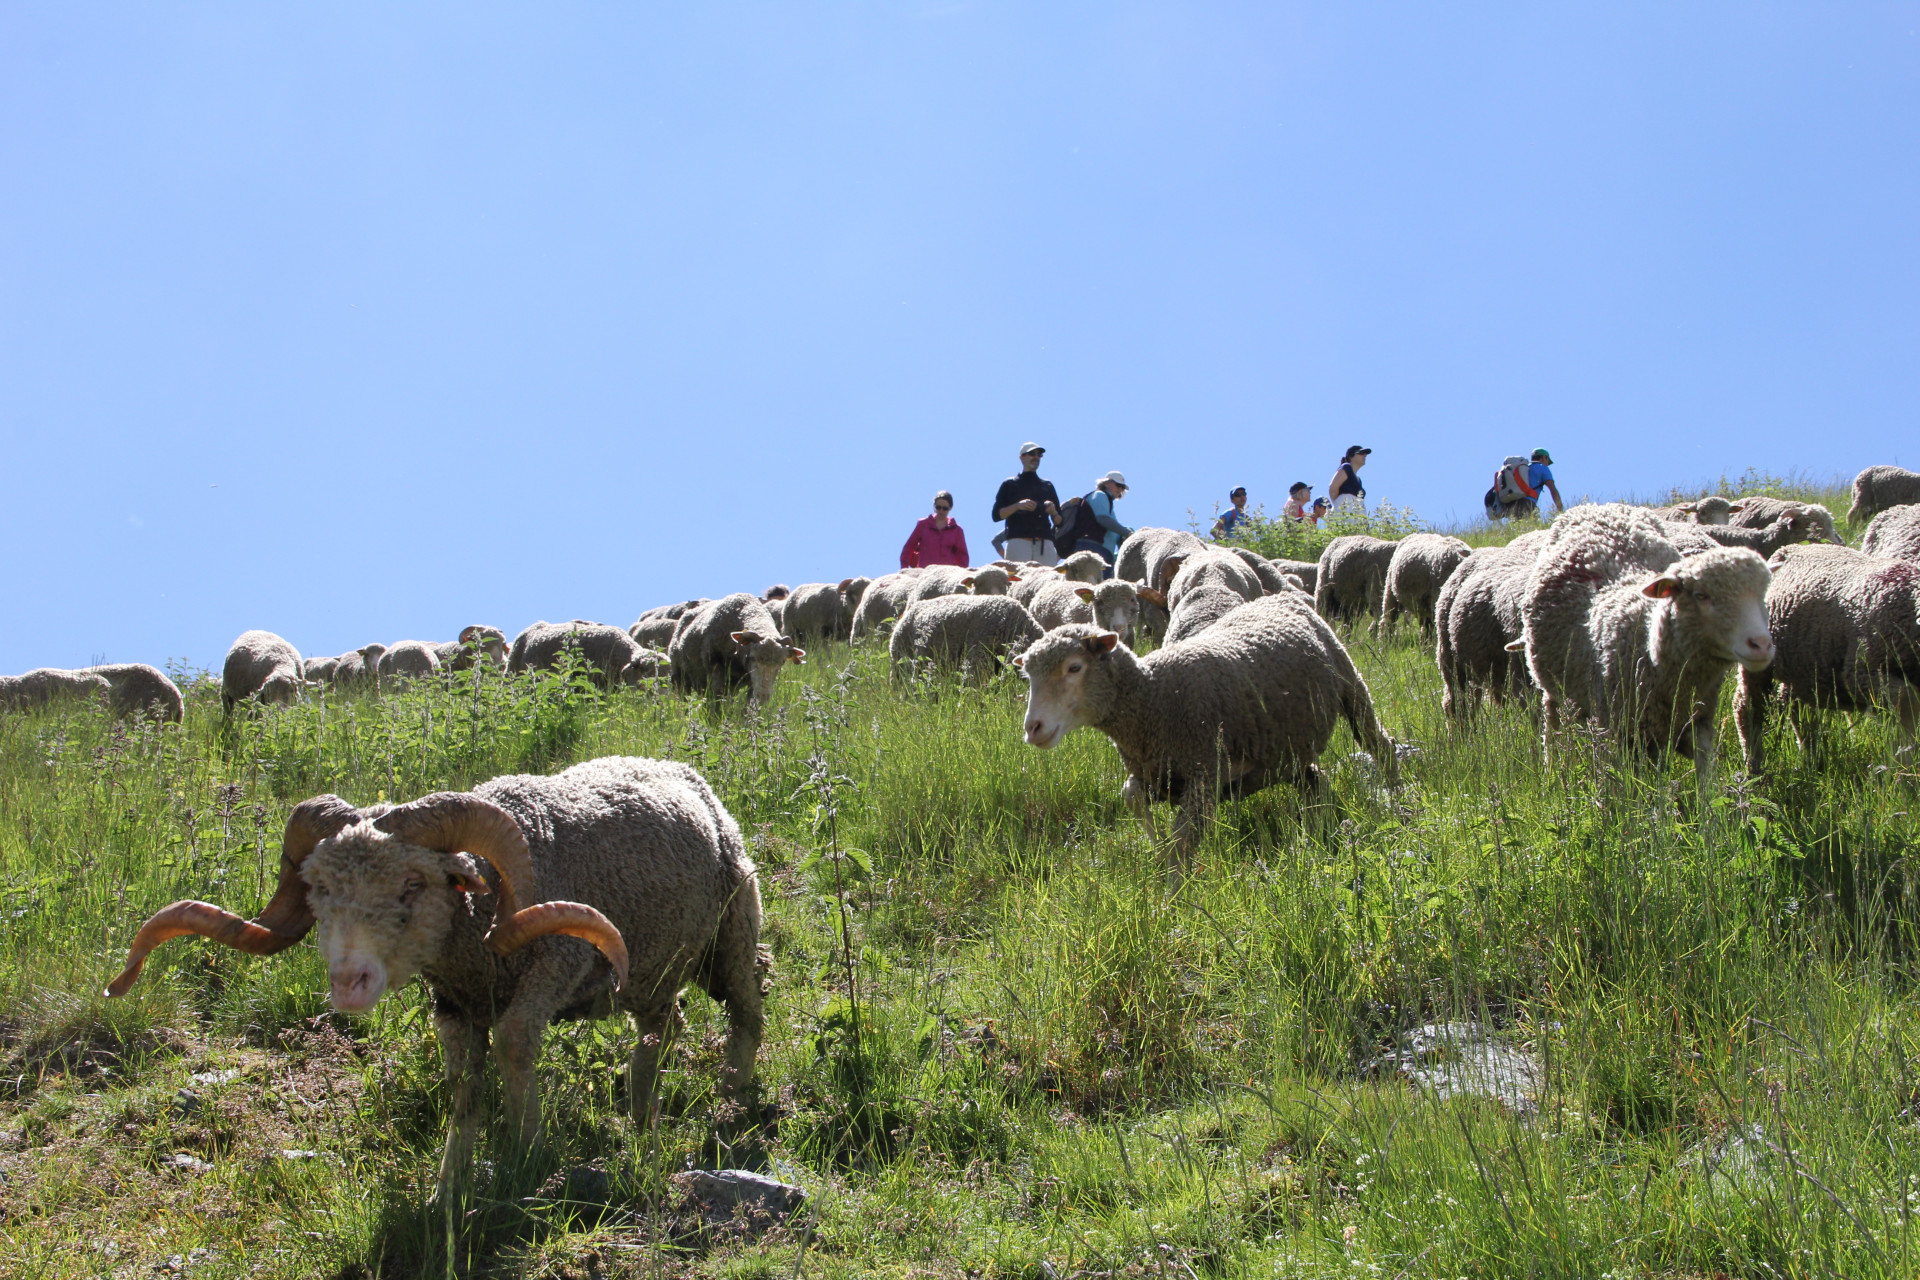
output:
[[[874,649],[816,654],[756,718],[490,676],[232,725],[205,681],[175,729],[4,718],[0,1270],[1920,1272],[1920,789],[1891,725],[1837,722],[1818,768],[1780,733],[1763,781],[1726,725],[1701,794],[1594,741],[1542,770],[1519,708],[1450,731],[1411,628],[1352,647],[1421,748],[1405,785],[1342,731],[1329,794],[1221,806],[1177,889],[1104,739],[1031,750],[1018,681],[899,691]],[[98,996],[152,908],[263,902],[307,794],[609,752],[693,762],[762,867],[768,1123],[732,1151],[699,994],[657,1130],[624,1119],[630,1029],[555,1027],[547,1148],[490,1134],[451,1219],[426,1205],[444,1096],[417,988],[344,1019],[311,946],[175,942]],[[1532,1105],[1373,1069],[1448,1019],[1534,1055]],[[810,1211],[699,1238],[670,1174],[726,1161]]]

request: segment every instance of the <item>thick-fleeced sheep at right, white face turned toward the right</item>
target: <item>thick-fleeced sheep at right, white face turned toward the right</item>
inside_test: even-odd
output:
[[[1549,748],[1561,720],[1592,718],[1647,754],[1686,750],[1705,779],[1728,670],[1772,662],[1768,570],[1743,547],[1682,558],[1667,539],[1680,528],[1620,503],[1555,520],[1513,645],[1540,685]]]

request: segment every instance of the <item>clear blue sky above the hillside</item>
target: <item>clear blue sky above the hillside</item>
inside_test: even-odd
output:
[[[1584,12],[1582,12],[1584,10]],[[0,672],[1920,464],[1914,4],[0,8]],[[991,555],[991,553],[987,553]]]

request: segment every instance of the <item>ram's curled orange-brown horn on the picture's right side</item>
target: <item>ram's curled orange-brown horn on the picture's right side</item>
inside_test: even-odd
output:
[[[493,865],[499,889],[493,892],[493,927],[486,944],[495,956],[511,956],[534,938],[564,933],[599,948],[612,965],[614,990],[626,986],[626,942],[611,919],[586,902],[520,906],[522,894],[538,889],[534,860],[520,823],[501,806],[463,791],[440,791],[388,810],[374,825],[409,844],[444,854],[467,852]]]

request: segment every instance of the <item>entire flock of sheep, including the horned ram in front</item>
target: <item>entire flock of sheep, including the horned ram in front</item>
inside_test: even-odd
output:
[[[482,662],[538,670],[572,652],[609,687],[664,677],[689,693],[747,689],[766,702],[781,670],[806,656],[803,645],[877,639],[891,622],[897,676],[1018,666],[1033,747],[1075,727],[1106,733],[1127,770],[1129,808],[1152,825],[1154,800],[1175,804],[1183,860],[1219,796],[1281,781],[1315,787],[1340,722],[1382,781],[1398,775],[1402,748],[1334,631],[1340,620],[1371,618],[1388,631],[1413,616],[1436,647],[1448,716],[1465,722],[1482,699],[1538,699],[1549,752],[1563,725],[1592,722],[1630,750],[1686,750],[1705,775],[1734,668],[1736,723],[1755,770],[1774,685],[1803,741],[1820,708],[1891,708],[1910,748],[1920,474],[1860,472],[1849,522],[1866,520],[1855,551],[1816,505],[1609,503],[1574,507],[1507,547],[1348,535],[1313,564],[1139,530],[1106,581],[1091,553],[1058,566],[900,570],[687,601],[628,629],[536,622],[509,645],[503,631],[470,626],[444,645],[369,645],[305,662],[284,639],[248,631],[227,656],[223,695],[232,710],[294,700],[319,683]],[[1139,637],[1158,645],[1139,654]],[[180,716],[179,689],[146,666],[8,677],[0,706],[60,693]],[[630,1100],[647,1123],[676,998],[699,984],[728,1007],[726,1092],[745,1096],[753,1084],[770,961],[755,865],[733,818],[684,764],[603,758],[411,804],[315,796],[288,819],[278,890],[259,915],[190,900],[163,908],[108,994],[125,994],[169,938],[265,956],[311,931],[342,1009],[369,1009],[413,977],[432,988],[451,1088],[440,1192],[468,1165],[490,1048],[509,1123],[526,1142],[538,1136],[534,1065],[555,1019],[636,1017]]]

